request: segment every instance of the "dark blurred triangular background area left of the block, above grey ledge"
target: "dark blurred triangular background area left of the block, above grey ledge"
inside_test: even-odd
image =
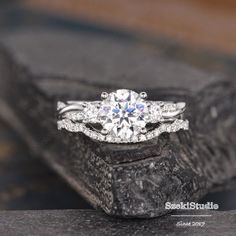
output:
[[[0,121],[0,210],[91,206]]]

